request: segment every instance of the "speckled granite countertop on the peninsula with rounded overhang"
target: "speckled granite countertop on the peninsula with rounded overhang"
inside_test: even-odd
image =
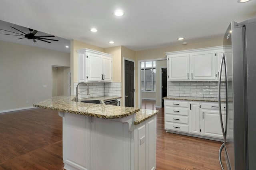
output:
[[[104,99],[110,100],[113,97],[101,97]],[[114,97],[114,99],[118,99],[120,97]],[[88,98],[92,99],[92,98]],[[93,97],[93,100],[96,98]],[[138,125],[150,117],[153,117],[159,111],[156,110],[148,110],[148,109],[138,109],[134,107],[122,107],[122,106],[112,106],[112,105],[101,105],[101,104],[93,104],[93,103],[82,103],[75,102],[75,96],[56,96],[50,99],[41,101],[33,105],[34,107],[40,107],[43,109],[51,109],[61,112],[73,113],[78,115],[86,115],[91,117],[98,117],[103,119],[118,119],[122,117],[126,117],[129,115],[133,115],[136,113],[136,121],[134,121],[134,125]]]

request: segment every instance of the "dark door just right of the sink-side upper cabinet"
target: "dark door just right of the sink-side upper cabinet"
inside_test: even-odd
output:
[[[134,107],[134,63],[124,60],[124,106]]]

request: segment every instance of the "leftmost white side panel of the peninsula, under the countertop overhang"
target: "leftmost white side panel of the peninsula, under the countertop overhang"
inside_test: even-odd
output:
[[[63,161],[67,170],[90,170],[90,124],[92,117],[65,113],[63,124]]]

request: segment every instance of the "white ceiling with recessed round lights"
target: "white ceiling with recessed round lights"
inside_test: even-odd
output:
[[[124,16],[114,16],[117,9]],[[0,20],[67,40],[134,51],[222,38],[231,21],[248,18],[256,18],[256,0],[8,0],[0,5]],[[99,31],[90,32],[92,27]],[[177,41],[179,37],[185,40]]]

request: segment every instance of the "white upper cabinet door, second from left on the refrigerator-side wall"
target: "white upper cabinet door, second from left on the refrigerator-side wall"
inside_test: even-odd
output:
[[[215,80],[214,51],[191,54],[191,80]]]

